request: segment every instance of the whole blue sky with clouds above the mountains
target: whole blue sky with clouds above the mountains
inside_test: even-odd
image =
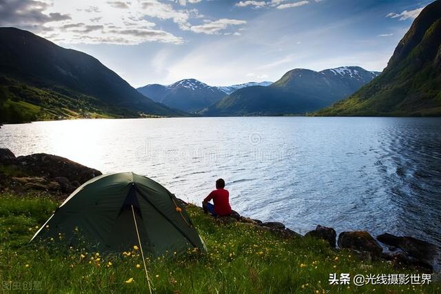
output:
[[[276,81],[294,68],[381,71],[415,0],[0,0],[0,26],[99,59],[134,87]]]

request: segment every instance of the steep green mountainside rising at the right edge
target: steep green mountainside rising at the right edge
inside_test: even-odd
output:
[[[440,116],[441,1],[413,21],[379,77],[316,115]]]

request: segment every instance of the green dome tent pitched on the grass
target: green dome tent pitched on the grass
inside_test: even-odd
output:
[[[135,226],[136,224],[136,226]],[[176,197],[152,179],[134,173],[94,177],[76,189],[32,237],[74,244],[81,236],[100,252],[141,245],[152,256],[205,244]]]

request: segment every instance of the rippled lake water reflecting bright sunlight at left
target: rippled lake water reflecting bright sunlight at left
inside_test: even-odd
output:
[[[439,118],[42,121],[2,126],[0,147],[147,175],[198,204],[223,177],[234,210],[302,234],[322,224],[441,246]]]

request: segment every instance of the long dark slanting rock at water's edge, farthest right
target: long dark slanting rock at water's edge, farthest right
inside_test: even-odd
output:
[[[398,237],[384,233],[377,237],[378,241],[402,249],[405,253],[420,261],[431,264],[436,254],[436,246],[414,237]]]

